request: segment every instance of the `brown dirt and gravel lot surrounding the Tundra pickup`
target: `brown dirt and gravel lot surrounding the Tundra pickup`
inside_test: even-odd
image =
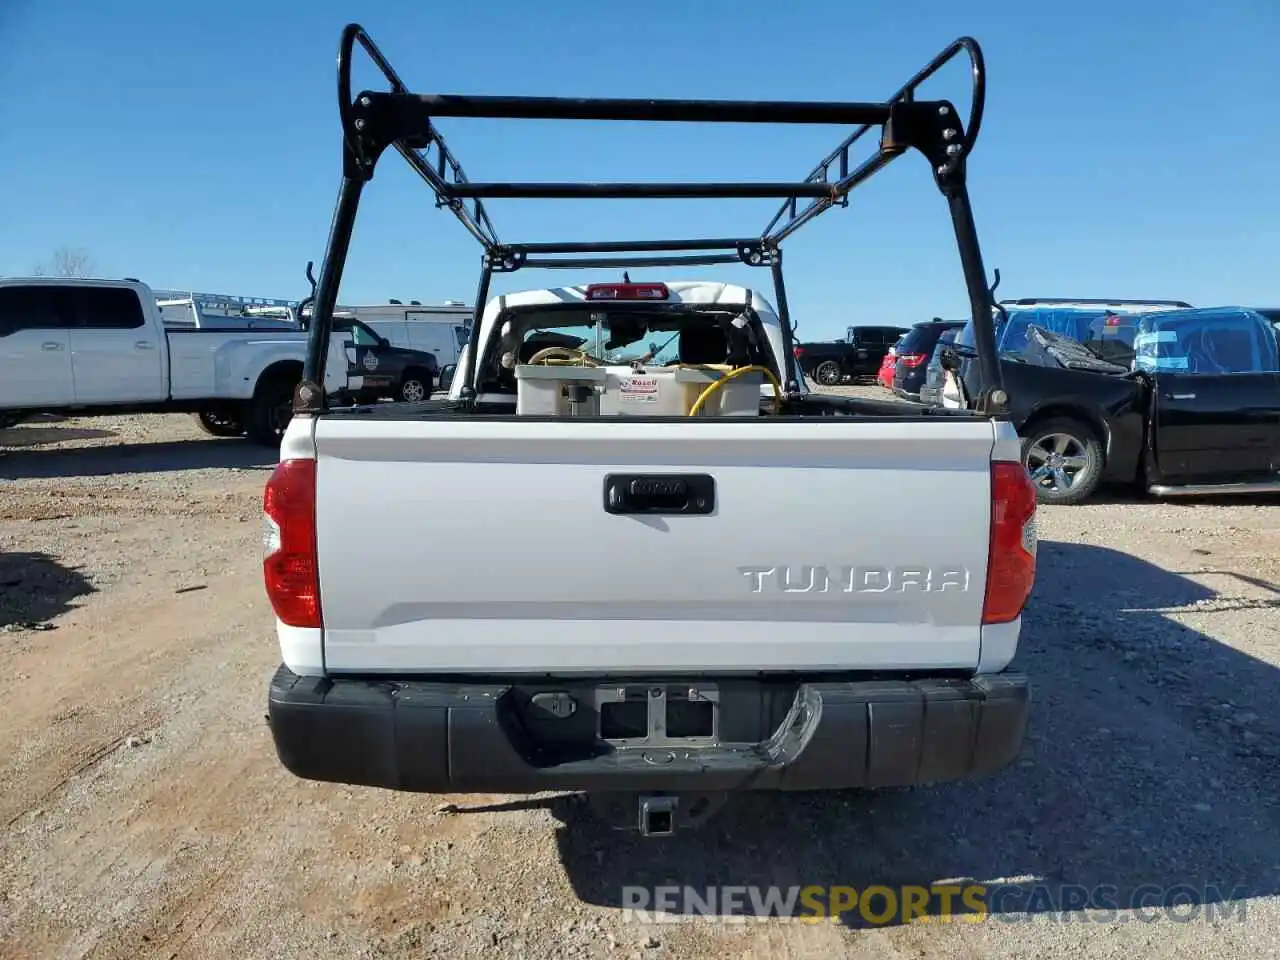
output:
[[[668,844],[611,835],[572,797],[285,773],[262,718],[269,465],[187,417],[0,431],[0,956],[1280,955],[1275,502],[1043,509],[1021,760],[919,791],[744,799]],[[1011,893],[984,923],[874,928],[621,909],[627,884],[956,878]],[[1059,915],[1037,884],[1110,884],[1115,902],[1183,884],[1202,906]]]

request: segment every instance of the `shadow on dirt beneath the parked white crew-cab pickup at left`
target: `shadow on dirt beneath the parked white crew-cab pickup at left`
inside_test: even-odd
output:
[[[0,453],[0,477],[32,480],[111,474],[164,474],[219,467],[269,470],[279,458],[279,451],[243,439],[122,443],[113,447]]]

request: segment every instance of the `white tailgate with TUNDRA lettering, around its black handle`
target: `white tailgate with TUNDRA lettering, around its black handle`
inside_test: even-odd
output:
[[[645,673],[978,663],[989,421],[321,417],[330,672]],[[605,509],[705,475],[710,512]]]

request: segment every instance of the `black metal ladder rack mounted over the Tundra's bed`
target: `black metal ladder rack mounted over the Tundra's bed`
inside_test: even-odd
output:
[[[379,68],[388,90],[352,95],[351,68],[356,45]],[[973,96],[966,122],[946,100],[916,100],[918,87],[960,54],[968,54]],[[324,408],[324,364],[338,287],[351,242],[364,186],[372,179],[388,147],[404,157],[435,195],[436,206],[448,207],[483,247],[481,276],[472,319],[472,344],[489,297],[494,273],[524,268],[589,269],[614,266],[673,266],[741,262],[768,266],[773,275],[776,306],[782,321],[786,385],[799,388],[792,356],[792,334],[782,282],[782,241],[835,206],[847,206],[849,193],[908,150],[923,154],[934,183],[950,207],[969,305],[974,340],[986,389],[979,410],[1005,412],[1006,397],[996,358],[992,298],[982,264],[965,184],[965,163],[982,125],[986,102],[986,68],[982,49],[961,37],[931,60],[891,97],[878,102],[762,101],[762,100],[644,100],[584,97],[461,96],[412,93],[356,23],[342,32],[338,50],[338,113],[343,131],[343,179],[329,233],[320,279],[315,291],[311,340],[296,412]],[[438,118],[613,120],[648,123],[751,123],[852,125],[854,132],[828,154],[803,180],[780,183],[475,183],[435,127]],[[879,128],[876,152],[856,166],[851,148],[872,128]],[[755,237],[671,241],[602,241],[566,243],[503,243],[484,205],[488,198],[657,198],[657,197],[774,197],[778,212]],[[801,201],[808,201],[801,206]],[[575,255],[575,256],[566,256]],[[474,398],[475,349],[466,351],[457,376],[462,394]]]

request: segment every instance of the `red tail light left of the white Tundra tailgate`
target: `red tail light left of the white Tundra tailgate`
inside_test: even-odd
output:
[[[262,495],[262,573],[271,609],[291,627],[319,627],[316,462],[285,460]]]

